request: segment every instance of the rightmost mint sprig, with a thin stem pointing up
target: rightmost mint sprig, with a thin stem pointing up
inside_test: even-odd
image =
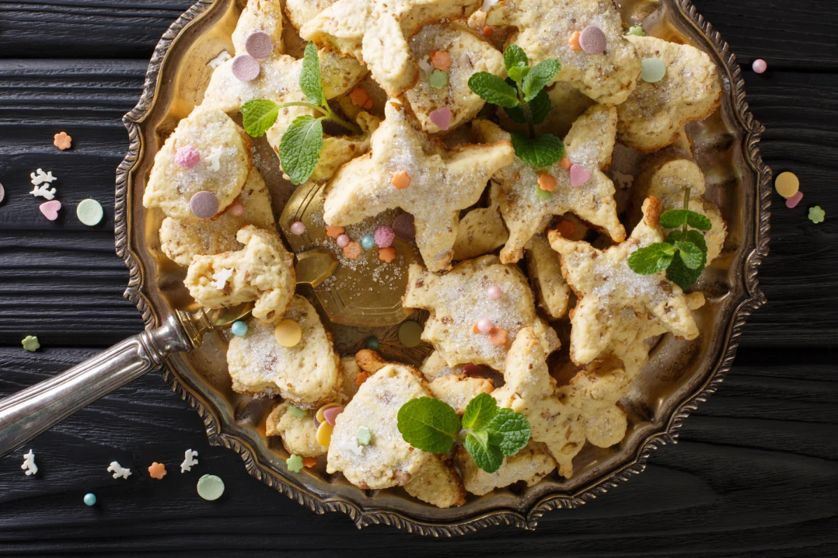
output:
[[[690,188],[687,188],[683,209],[670,209],[660,214],[661,227],[680,229],[670,232],[666,242],[635,250],[629,256],[629,268],[634,273],[649,275],[666,270],[666,278],[681,289],[696,284],[707,264],[707,243],[698,231],[709,231],[712,223],[701,213],[691,211],[689,206]]]

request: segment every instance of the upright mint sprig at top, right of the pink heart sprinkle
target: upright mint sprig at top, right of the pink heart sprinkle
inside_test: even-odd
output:
[[[507,79],[489,72],[477,72],[468,79],[468,87],[487,103],[504,107],[506,114],[519,124],[527,125],[527,134],[513,132],[515,155],[535,167],[551,166],[564,155],[564,144],[556,136],[535,134],[551,110],[550,96],[544,88],[561,69],[556,59],[541,60],[530,67],[524,49],[510,44],[504,50]],[[549,137],[546,137],[549,136]]]

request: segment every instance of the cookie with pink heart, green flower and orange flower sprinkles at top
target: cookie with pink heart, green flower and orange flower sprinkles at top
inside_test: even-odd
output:
[[[422,130],[432,134],[452,131],[483,108],[484,100],[468,88],[472,74],[506,75],[499,50],[463,23],[426,25],[411,38],[410,45],[413,59],[422,61],[422,71],[405,96]],[[437,62],[445,68],[446,84],[442,87],[431,85],[430,76],[436,69],[430,56],[433,53],[438,53]]]

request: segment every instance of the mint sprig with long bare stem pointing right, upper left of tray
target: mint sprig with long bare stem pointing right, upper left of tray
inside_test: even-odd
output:
[[[317,47],[313,43],[306,45],[303,54],[303,67],[300,69],[300,89],[308,102],[294,101],[289,103],[275,103],[272,100],[254,99],[241,105],[241,120],[248,136],[261,137],[277,122],[279,111],[287,106],[303,106],[317,111],[320,116],[297,116],[288,126],[279,145],[279,160],[282,170],[294,184],[302,184],[312,176],[320,161],[320,150],[323,149],[323,120],[332,120],[344,126],[354,134],[360,134],[361,129],[353,122],[349,122],[332,112],[323,84],[320,80],[320,58]]]

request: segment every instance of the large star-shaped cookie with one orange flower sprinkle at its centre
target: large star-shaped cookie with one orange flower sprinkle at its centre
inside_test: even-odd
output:
[[[371,152],[349,161],[329,182],[323,219],[346,226],[401,207],[415,218],[425,265],[446,269],[460,210],[478,201],[489,177],[508,165],[515,151],[509,140],[448,150],[429,138],[398,100],[387,103],[385,115]]]

